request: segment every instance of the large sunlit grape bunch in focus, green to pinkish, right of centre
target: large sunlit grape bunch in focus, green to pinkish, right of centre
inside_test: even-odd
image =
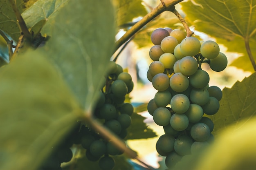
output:
[[[206,115],[218,112],[222,91],[209,86],[209,74],[201,65],[223,71],[227,57],[216,42],[186,37],[180,29],[155,29],[151,41],[154,46],[149,56],[153,62],[147,77],[157,93],[148,102],[148,112],[165,132],[156,150],[166,157],[166,166],[173,168],[214,140],[213,121]]]

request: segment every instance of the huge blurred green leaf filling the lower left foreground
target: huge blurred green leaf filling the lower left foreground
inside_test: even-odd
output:
[[[0,170],[35,170],[74,126],[79,105],[38,52],[0,69]]]

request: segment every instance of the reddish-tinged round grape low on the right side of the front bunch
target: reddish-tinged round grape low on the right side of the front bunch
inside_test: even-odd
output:
[[[210,134],[210,128],[204,123],[194,124],[190,130],[190,135],[195,141],[206,141]]]

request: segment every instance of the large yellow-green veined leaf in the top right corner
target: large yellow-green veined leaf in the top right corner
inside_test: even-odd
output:
[[[192,1],[182,2],[182,10],[186,13],[186,19],[195,25],[195,29],[211,36],[228,40],[230,49],[238,46],[235,52],[244,53],[250,62],[245,50],[245,41],[250,41],[254,60],[256,60],[256,1],[253,0],[194,0],[199,5],[194,5]],[[252,66],[239,64],[234,61],[232,65],[242,68],[245,71],[253,71]]]

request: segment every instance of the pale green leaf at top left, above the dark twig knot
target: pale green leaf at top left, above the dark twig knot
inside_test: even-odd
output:
[[[39,26],[45,24],[45,31],[43,33],[49,35],[51,34],[52,26],[48,22],[55,20],[58,10],[63,8],[66,2],[68,2],[68,0],[38,0],[22,13],[22,17],[29,29],[36,26],[38,22],[41,23]]]

